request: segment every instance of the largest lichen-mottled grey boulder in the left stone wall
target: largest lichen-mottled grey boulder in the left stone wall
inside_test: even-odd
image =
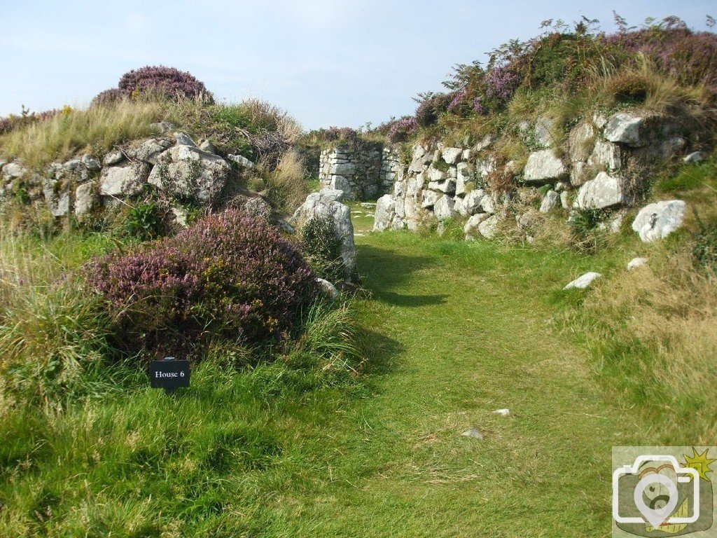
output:
[[[173,146],[164,151],[148,182],[171,196],[212,203],[229,176],[229,164],[195,146]]]

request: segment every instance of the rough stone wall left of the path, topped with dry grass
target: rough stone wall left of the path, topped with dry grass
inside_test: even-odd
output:
[[[187,205],[219,207],[226,197],[258,197],[240,193],[237,187],[239,176],[254,169],[248,159],[219,156],[211,142],[197,145],[186,133],[173,132],[170,123],[153,128],[153,138],[132,141],[104,155],[84,154],[52,163],[44,170],[0,161],[0,202],[11,197],[44,202],[54,217],[74,215],[82,221],[105,207],[154,199],[181,221]]]

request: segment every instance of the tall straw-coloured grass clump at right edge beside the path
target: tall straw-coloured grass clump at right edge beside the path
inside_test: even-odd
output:
[[[630,404],[684,435],[717,435],[717,280],[689,252],[655,247],[650,262],[585,300],[598,374]]]

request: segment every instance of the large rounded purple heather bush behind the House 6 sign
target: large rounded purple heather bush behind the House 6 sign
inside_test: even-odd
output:
[[[197,351],[210,336],[246,344],[285,339],[319,295],[298,247],[229,209],[126,255],[90,266],[115,345],[155,354]]]

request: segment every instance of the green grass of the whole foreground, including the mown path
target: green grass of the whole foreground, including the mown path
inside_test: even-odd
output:
[[[354,211],[364,375],[217,357],[171,397],[137,372],[6,412],[0,535],[607,535],[610,449],[655,433],[559,319],[564,283],[614,260],[371,234]]]

